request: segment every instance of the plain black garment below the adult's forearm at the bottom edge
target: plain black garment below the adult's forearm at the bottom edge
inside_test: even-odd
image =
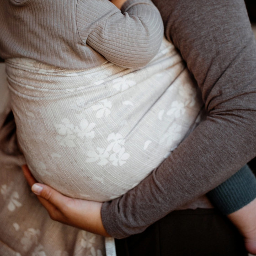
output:
[[[247,256],[242,236],[215,209],[174,211],[143,233],[116,239],[117,256]]]

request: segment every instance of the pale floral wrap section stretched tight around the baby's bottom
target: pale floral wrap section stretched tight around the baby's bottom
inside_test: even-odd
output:
[[[6,61],[17,136],[33,175],[96,201],[136,186],[192,129],[201,103],[174,46],[144,69]]]

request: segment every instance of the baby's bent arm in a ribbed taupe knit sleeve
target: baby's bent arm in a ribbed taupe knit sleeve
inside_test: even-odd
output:
[[[150,0],[128,0],[121,11],[108,0],[78,0],[76,15],[82,42],[114,64],[139,69],[160,48],[163,23]]]

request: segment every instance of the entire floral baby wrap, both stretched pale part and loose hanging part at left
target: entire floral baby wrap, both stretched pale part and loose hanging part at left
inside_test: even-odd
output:
[[[20,146],[37,179],[74,197],[106,200],[136,185],[195,124],[201,104],[180,57],[164,41],[139,71],[112,64],[80,72],[45,69],[29,59],[6,64],[11,93],[1,80],[0,255],[106,255],[103,237],[52,221],[30,192],[9,96]]]

